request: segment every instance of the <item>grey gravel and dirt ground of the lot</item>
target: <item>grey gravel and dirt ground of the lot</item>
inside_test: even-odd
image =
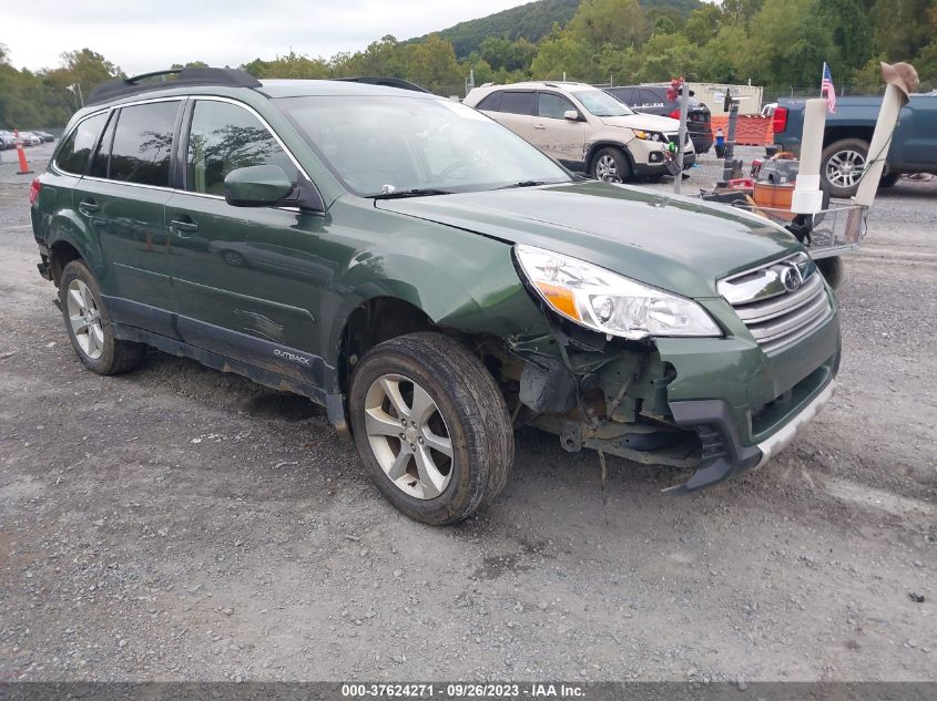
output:
[[[937,680],[937,182],[876,203],[841,389],[764,470],[671,498],[613,460],[603,501],[594,453],[526,432],[499,503],[432,529],[303,399],[157,352],[83,371],[12,156],[0,680]]]

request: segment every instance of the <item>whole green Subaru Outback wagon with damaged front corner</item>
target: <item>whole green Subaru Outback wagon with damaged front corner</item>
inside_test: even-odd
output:
[[[426,93],[170,78],[95,90],[32,186],[93,372],[153,347],[308,396],[436,525],[498,495],[519,426],[693,470],[685,493],[833,393],[834,297],[764,219],[579,178]]]

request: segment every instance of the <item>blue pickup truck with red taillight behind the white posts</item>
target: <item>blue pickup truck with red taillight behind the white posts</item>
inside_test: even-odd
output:
[[[833,197],[855,195],[868,155],[880,96],[839,97],[826,115],[821,181]],[[774,143],[799,154],[804,100],[780,100],[774,111]],[[914,94],[902,109],[879,187],[890,187],[904,173],[937,174],[937,91]]]

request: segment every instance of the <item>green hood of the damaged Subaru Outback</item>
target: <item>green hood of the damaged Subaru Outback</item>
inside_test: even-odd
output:
[[[693,298],[801,250],[784,229],[724,205],[608,183],[378,199],[375,206],[511,244],[539,246]]]

